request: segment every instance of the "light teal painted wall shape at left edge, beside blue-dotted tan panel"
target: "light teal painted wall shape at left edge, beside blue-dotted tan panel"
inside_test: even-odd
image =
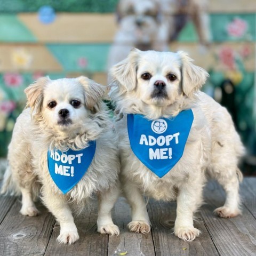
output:
[[[0,42],[36,42],[37,39],[15,14],[0,15]]]

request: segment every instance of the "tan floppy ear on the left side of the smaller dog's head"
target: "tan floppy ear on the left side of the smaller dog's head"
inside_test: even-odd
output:
[[[28,100],[27,106],[29,106],[31,110],[35,109],[37,114],[42,111],[44,87],[50,81],[51,79],[49,77],[41,77],[25,89]]]

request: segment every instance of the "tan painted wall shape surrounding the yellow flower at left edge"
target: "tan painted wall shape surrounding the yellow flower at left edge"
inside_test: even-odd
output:
[[[26,52],[30,60],[27,65],[19,66],[13,60],[17,51]],[[0,72],[12,71],[62,71],[61,65],[43,45],[0,44]]]

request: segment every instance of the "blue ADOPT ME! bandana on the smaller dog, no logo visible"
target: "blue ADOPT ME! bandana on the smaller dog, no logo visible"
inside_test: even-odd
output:
[[[82,150],[48,150],[48,169],[57,187],[66,194],[83,178],[95,154],[96,142]]]

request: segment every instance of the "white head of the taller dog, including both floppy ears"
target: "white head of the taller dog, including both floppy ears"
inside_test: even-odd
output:
[[[110,70],[110,75],[119,98],[136,98],[146,105],[167,107],[181,97],[193,97],[205,83],[207,72],[191,61],[184,52],[134,49]]]

